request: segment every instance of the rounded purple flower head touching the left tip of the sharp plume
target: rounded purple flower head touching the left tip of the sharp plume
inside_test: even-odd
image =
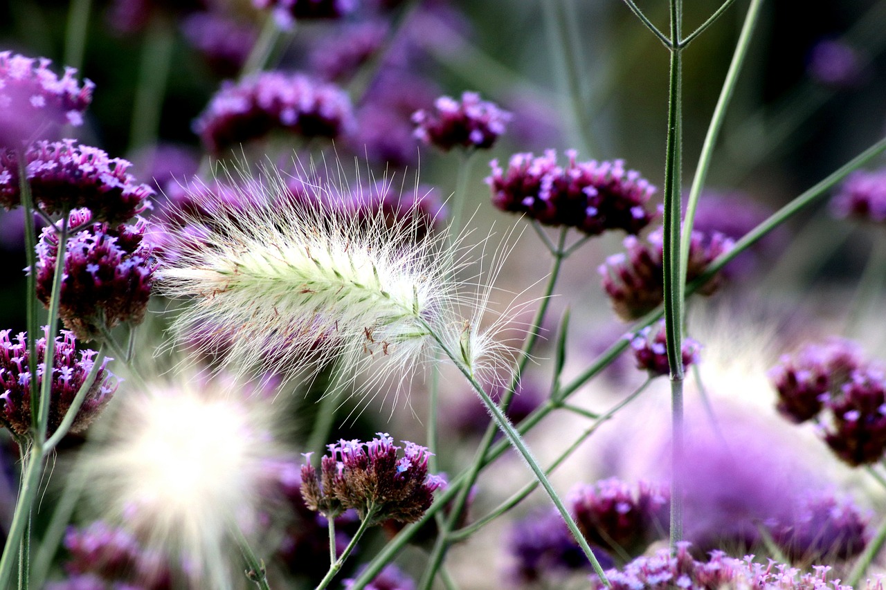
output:
[[[156,268],[144,240],[144,220],[135,225],[89,223],[88,209],[70,216],[83,227],[66,245],[58,315],[77,338],[98,339],[102,326],[141,323],[151,298]],[[58,262],[58,229],[43,229],[37,243],[37,298],[49,306]]]

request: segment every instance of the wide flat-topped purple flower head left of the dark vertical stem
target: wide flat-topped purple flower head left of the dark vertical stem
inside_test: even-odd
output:
[[[556,151],[536,158],[532,153],[511,156],[508,169],[498,160],[490,163],[493,205],[501,211],[524,213],[546,225],[574,227],[589,236],[607,229],[624,229],[637,234],[649,225],[653,213],[646,210],[656,188],[625,162],[577,161],[567,151],[569,163],[556,163]]]

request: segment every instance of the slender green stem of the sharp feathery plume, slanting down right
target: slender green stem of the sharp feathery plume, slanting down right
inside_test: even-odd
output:
[[[483,400],[484,405],[486,405],[486,409],[492,414],[495,423],[498,424],[501,432],[507,437],[510,441],[511,446],[517,450],[524,461],[529,466],[532,473],[535,475],[536,479],[538,479],[541,487],[544,488],[545,492],[548,493],[548,497],[554,503],[557,511],[563,516],[563,521],[565,521],[566,526],[569,528],[572,536],[579,543],[579,547],[587,556],[587,559],[591,562],[591,565],[594,567],[594,571],[597,576],[601,579],[603,584],[606,586],[610,586],[609,579],[606,578],[606,574],[603,573],[602,567],[600,563],[597,561],[594,552],[591,551],[591,547],[588,546],[587,540],[585,540],[584,535],[579,531],[579,527],[575,524],[575,521],[572,519],[572,516],[569,513],[569,509],[563,504],[563,501],[560,499],[560,496],[554,490],[554,487],[548,481],[548,477],[545,475],[545,472],[541,470],[539,463],[535,460],[535,457],[532,456],[532,453],[529,450],[529,447],[525,445],[523,438],[520,436],[519,432],[514,428],[513,424],[510,423],[508,417],[504,415],[501,411],[501,408],[494,402],[492,398],[489,397],[489,394],[483,389],[483,386],[478,383],[476,377],[474,377],[473,373],[470,371],[468,367],[464,365],[459,356],[449,348],[449,345],[442,339],[439,338],[439,334],[437,334],[436,330],[433,330],[429,324],[424,322],[424,328],[431,333],[431,338],[437,341],[439,347],[443,350],[444,353],[449,357],[449,360],[452,361],[456,368],[462,373],[465,379],[468,380],[470,386],[477,392],[480,400]]]

